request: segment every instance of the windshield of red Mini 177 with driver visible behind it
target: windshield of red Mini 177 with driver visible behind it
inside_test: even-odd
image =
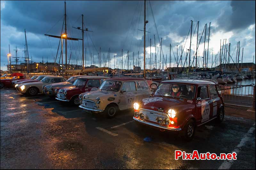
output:
[[[195,96],[196,87],[194,85],[163,83],[160,84],[154,95],[170,96],[192,100]]]

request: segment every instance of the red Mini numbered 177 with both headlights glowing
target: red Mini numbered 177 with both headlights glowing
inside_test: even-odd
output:
[[[133,119],[161,130],[180,131],[185,140],[194,137],[196,126],[224,118],[222,97],[210,81],[162,81],[152,95],[134,103]]]

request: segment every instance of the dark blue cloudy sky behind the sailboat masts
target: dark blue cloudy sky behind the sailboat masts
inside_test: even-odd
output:
[[[128,50],[131,65],[133,64],[133,52],[135,53],[135,62],[138,51],[141,62],[143,61],[143,32],[138,29],[143,30],[144,1],[66,1],[66,3],[68,37],[82,39],[81,31],[72,28],[72,26],[82,27],[82,14],[84,14],[84,26],[93,31],[85,34],[84,46],[87,52],[87,66],[91,64],[91,54],[98,65],[100,47],[102,65],[103,54],[106,58],[109,48],[112,68],[114,55],[116,55],[117,66],[119,65],[121,68],[122,49],[124,50],[123,63],[125,63]],[[184,48],[191,26],[190,21],[193,20],[191,56],[193,50],[196,51],[197,29],[195,34],[194,31],[197,21],[199,21],[198,39],[201,37],[204,25],[207,24],[206,42],[208,42],[209,22],[211,22],[208,66],[212,65],[210,57],[212,53],[213,56],[219,53],[220,40],[223,41],[223,39],[227,39],[227,44],[231,43],[230,53],[233,54],[234,60],[236,59],[236,45],[240,41],[241,55],[242,48],[244,48],[243,62],[252,62],[253,55],[255,56],[255,1],[150,1],[150,4],[147,1],[146,20],[149,22],[146,30],[150,32],[146,34],[147,58],[150,57],[151,38],[151,53],[154,53],[155,61],[155,34],[157,63],[160,59],[159,40],[161,41],[162,38],[164,57],[167,55],[167,67],[169,67],[170,44],[173,50],[173,52],[171,51],[172,64],[174,64],[177,45],[178,55],[180,55],[181,46]],[[44,34],[60,36],[63,19],[64,1],[1,1],[1,70],[6,70],[9,44],[12,57],[15,56],[13,49],[16,46],[19,50],[18,57],[24,57],[24,29],[26,29],[28,52],[29,56],[32,56],[32,60],[42,62],[42,57],[44,57],[44,61],[48,57],[48,62],[53,62],[59,39]],[[189,40],[190,34],[185,49],[189,48]],[[82,41],[68,41],[67,44],[68,59],[71,54],[70,63],[74,64],[77,61],[78,64],[82,65]],[[207,43],[205,46],[207,48]],[[203,55],[204,34],[198,51],[199,55]],[[184,50],[185,52],[186,50]],[[57,62],[59,57],[60,54],[57,56]],[[65,55],[63,57],[65,62]],[[23,61],[24,58],[19,58],[19,60]],[[184,61],[185,57],[182,60]]]

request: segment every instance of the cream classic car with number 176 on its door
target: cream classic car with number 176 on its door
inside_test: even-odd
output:
[[[99,90],[79,95],[79,107],[86,112],[105,113],[109,118],[120,110],[132,109],[134,102],[149,97],[151,90],[143,78],[111,78]]]

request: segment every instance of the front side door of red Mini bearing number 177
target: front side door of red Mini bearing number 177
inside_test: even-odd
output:
[[[212,111],[212,101],[209,97],[208,86],[198,86],[196,99],[201,98],[201,100],[196,103],[196,122],[197,125],[202,124],[212,118],[210,114]]]

